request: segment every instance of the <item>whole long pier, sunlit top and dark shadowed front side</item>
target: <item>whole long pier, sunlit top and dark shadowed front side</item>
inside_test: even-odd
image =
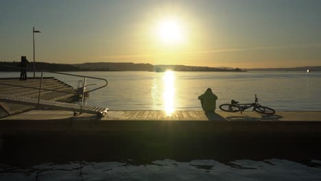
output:
[[[321,112],[91,114],[32,110],[0,119],[1,162],[321,159]]]

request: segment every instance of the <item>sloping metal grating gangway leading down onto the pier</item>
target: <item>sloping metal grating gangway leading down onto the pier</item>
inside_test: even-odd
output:
[[[99,108],[94,106],[80,106],[78,104],[70,104],[58,101],[47,101],[43,99],[33,99],[29,97],[19,97],[13,95],[0,94],[0,101],[12,104],[24,104],[28,106],[40,106],[43,108],[51,108],[54,110],[70,110],[73,112],[82,112],[88,114],[97,114],[98,117],[104,117],[108,112],[108,108]]]

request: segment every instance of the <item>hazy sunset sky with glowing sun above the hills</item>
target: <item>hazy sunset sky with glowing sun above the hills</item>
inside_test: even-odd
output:
[[[0,0],[0,60],[321,65],[321,1]]]

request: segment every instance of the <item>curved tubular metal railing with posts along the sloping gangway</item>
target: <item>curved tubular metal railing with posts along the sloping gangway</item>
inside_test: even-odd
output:
[[[12,67],[12,66],[1,65],[1,64],[0,64],[0,66],[1,67],[7,67],[7,68],[10,68],[10,69],[16,69],[16,70],[23,69],[21,67]],[[34,71],[34,69],[25,69],[25,70]],[[38,93],[38,103],[39,103],[41,90],[50,90],[50,91],[59,92],[59,93],[69,93],[69,94],[71,93],[71,92],[67,92],[67,91],[63,91],[63,90],[52,90],[52,89],[48,89],[48,88],[41,88],[43,86],[43,73],[44,72],[46,72],[46,73],[56,73],[56,74],[60,74],[60,75],[69,75],[69,76],[73,76],[73,77],[82,77],[82,78],[84,78],[84,84],[82,86],[82,102],[81,102],[81,105],[80,105],[81,108],[82,108],[83,103],[84,103],[85,93],[91,93],[91,92],[93,92],[95,90],[98,90],[100,88],[104,88],[104,87],[106,87],[108,85],[108,81],[106,79],[99,78],[99,77],[75,75],[75,74],[71,74],[71,73],[61,73],[61,72],[56,72],[56,71],[38,71],[38,72],[41,72],[39,88],[34,88],[34,87],[31,87],[31,86],[20,86],[20,85],[3,84],[3,83],[0,83],[0,84],[7,85],[7,86],[17,86],[17,87],[23,87],[23,88],[34,88],[34,89],[37,89],[37,90],[39,90],[39,93]],[[103,80],[105,82],[105,84],[103,86],[99,86],[97,88],[93,88],[92,90],[85,91],[87,78],[95,79],[95,80]],[[73,94],[78,95],[78,93],[76,93],[76,92],[73,93]]]

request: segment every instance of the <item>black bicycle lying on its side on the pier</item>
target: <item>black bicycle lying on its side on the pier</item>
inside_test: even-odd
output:
[[[226,112],[243,112],[244,110],[247,110],[248,108],[252,108],[252,111],[259,112],[261,114],[274,114],[275,110],[272,108],[268,108],[266,106],[261,106],[259,104],[257,95],[255,95],[255,101],[252,104],[239,104],[238,101],[232,100],[230,101],[230,104],[221,104],[219,106],[220,110],[226,111]]]

